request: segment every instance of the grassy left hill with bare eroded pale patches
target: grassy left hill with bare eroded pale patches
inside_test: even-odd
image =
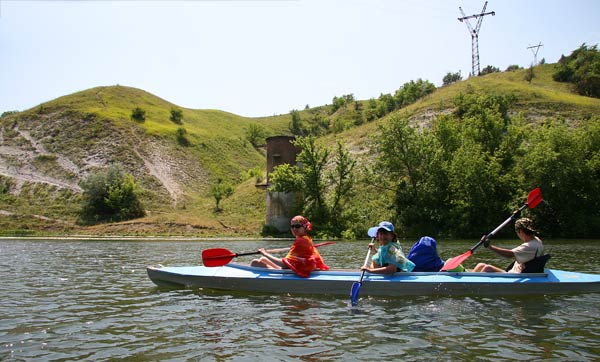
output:
[[[131,119],[135,107],[146,112],[144,122]],[[171,109],[182,111],[182,124],[170,121]],[[254,190],[254,180],[243,175],[265,167],[265,151],[254,148],[245,132],[255,123],[269,134],[285,134],[289,116],[250,119],[191,110],[139,89],[113,86],[64,96],[1,121],[0,180],[5,187],[0,223],[5,233],[35,232],[20,220],[41,215],[56,220],[58,232],[67,225],[83,233],[245,235],[259,232],[262,225],[256,224],[264,216],[244,224],[236,215],[215,214],[210,186],[217,179],[237,185],[232,200],[250,195],[232,209],[246,211],[241,206],[260,199],[263,204],[257,209],[263,211],[264,191]],[[187,145],[177,139],[180,128]],[[79,183],[110,163],[134,175],[143,188],[148,216],[122,225],[81,228],[75,224]]]

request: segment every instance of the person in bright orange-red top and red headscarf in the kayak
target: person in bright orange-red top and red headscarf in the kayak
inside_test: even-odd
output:
[[[313,246],[312,238],[307,234],[308,231],[312,230],[310,221],[301,215],[294,216],[290,222],[290,227],[296,240],[287,256],[278,258],[262,248],[258,251],[263,256],[252,260],[250,265],[269,269],[292,269],[303,278],[308,278],[310,272],[316,269],[329,270],[329,267],[323,262],[321,254]]]

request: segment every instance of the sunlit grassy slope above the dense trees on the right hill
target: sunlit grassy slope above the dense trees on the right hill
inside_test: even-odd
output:
[[[511,113],[522,114],[527,122],[533,124],[546,119],[563,119],[576,125],[600,114],[600,99],[580,96],[573,91],[571,84],[555,82],[552,80],[554,69],[555,64],[535,67],[535,77],[531,83],[525,80],[526,69],[469,78],[440,87],[434,93],[383,119],[340,134],[328,135],[324,140],[328,144],[343,140],[357,156],[368,155],[369,137],[388,117],[400,115],[408,117],[415,124],[428,123],[439,114],[451,112],[454,109],[454,99],[460,93],[514,95],[515,104]]]

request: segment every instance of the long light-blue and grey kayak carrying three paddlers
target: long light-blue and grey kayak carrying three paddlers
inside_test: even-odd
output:
[[[311,295],[349,295],[357,270],[312,272],[301,278],[291,270],[230,263],[220,267],[148,267],[158,286]],[[546,269],[543,273],[418,272],[365,274],[361,296],[542,295],[600,292],[600,275]]]

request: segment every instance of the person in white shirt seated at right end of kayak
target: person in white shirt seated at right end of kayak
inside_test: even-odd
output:
[[[536,257],[544,255],[544,244],[542,244],[542,240],[536,236],[537,232],[531,219],[524,217],[515,221],[515,231],[517,236],[519,236],[519,239],[523,241],[523,244],[514,249],[504,249],[490,245],[489,239],[487,239],[483,244],[486,248],[492,250],[500,256],[515,259],[515,263],[508,273],[521,273],[523,269],[525,269],[525,263],[533,260]],[[506,273],[504,269],[486,263],[477,264],[473,271]]]

